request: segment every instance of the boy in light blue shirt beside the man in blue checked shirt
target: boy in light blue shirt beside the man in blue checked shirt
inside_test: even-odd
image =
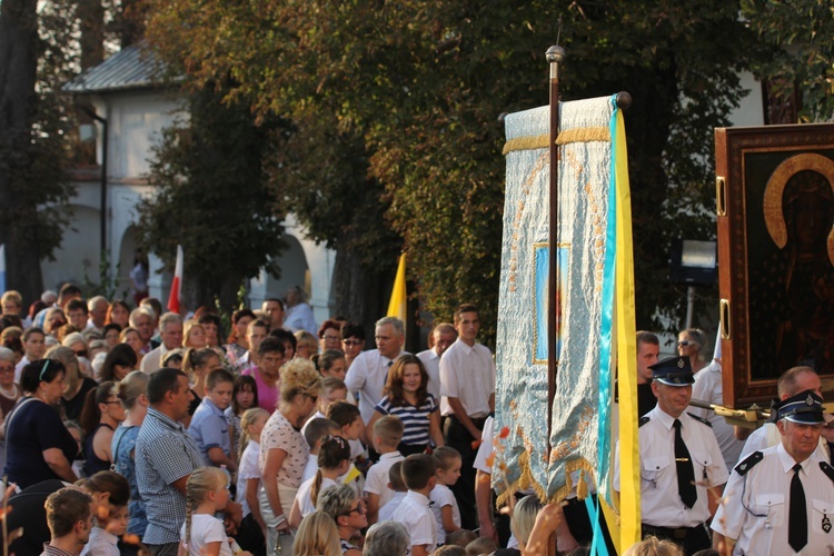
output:
[[[226,369],[215,369],[206,377],[206,397],[191,418],[188,434],[200,448],[206,465],[238,468],[231,458],[231,438],[224,411],[231,403],[235,377]]]

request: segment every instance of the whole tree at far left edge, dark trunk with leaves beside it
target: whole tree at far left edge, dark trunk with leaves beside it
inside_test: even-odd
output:
[[[7,284],[28,300],[40,296],[40,260],[60,245],[72,191],[64,173],[69,120],[58,95],[68,76],[67,24],[51,27],[64,8],[56,2],[39,13],[34,0],[0,4],[0,242]]]

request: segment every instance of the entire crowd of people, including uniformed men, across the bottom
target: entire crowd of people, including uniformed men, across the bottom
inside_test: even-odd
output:
[[[6,291],[0,318],[6,542],[19,556],[589,554],[595,527],[575,495],[543,506],[520,493],[508,516],[494,512],[495,363],[475,305],[411,355],[394,317],[373,338],[344,318],[317,327],[297,287],[235,311],[228,335],[209,308],[131,309],[73,285],[22,301]],[[628,554],[832,553],[814,370],[785,373],[773,424],[745,446],[689,406],[721,403],[702,331],[681,332],[663,361],[655,335],[636,342],[647,538]],[[794,479],[774,478],[791,460],[808,493],[802,533]]]

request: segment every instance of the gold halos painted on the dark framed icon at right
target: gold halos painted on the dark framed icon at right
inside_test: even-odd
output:
[[[834,190],[834,160],[805,152],[796,155],[783,161],[776,167],[767,180],[764,196],[764,218],[767,225],[767,232],[773,238],[776,246],[782,249],[787,244],[787,227],[785,216],[782,212],[782,195],[785,191],[787,180],[801,171],[814,171],[823,175],[828,180],[828,185]],[[828,234],[828,260],[834,265],[834,228]]]

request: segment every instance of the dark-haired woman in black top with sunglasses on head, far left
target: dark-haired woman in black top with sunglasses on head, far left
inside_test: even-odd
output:
[[[70,464],[78,443],[56,409],[66,374],[60,361],[41,359],[27,365],[20,376],[26,396],[6,417],[6,441],[12,448],[3,473],[21,489],[48,479],[78,479]]]

